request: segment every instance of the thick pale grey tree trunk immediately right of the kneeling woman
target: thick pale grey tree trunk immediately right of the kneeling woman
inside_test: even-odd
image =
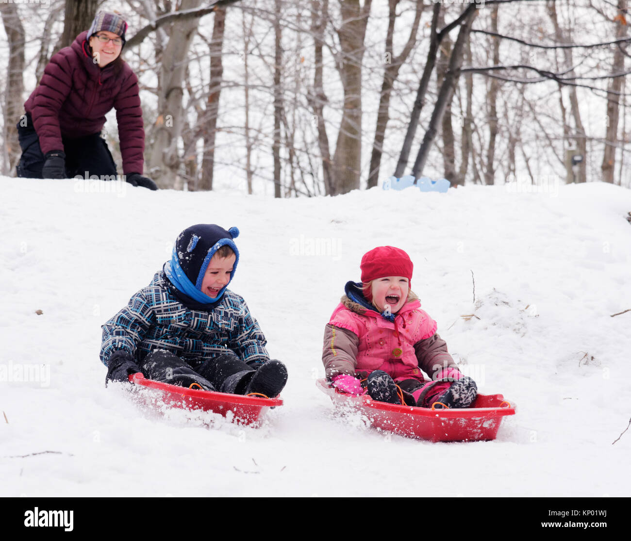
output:
[[[182,0],[180,11],[194,9],[201,0]],[[178,142],[182,133],[182,81],[186,73],[187,54],[199,18],[172,23],[167,47],[162,55],[160,88],[158,90],[158,120],[156,121],[149,175],[160,188],[175,186],[180,157]]]

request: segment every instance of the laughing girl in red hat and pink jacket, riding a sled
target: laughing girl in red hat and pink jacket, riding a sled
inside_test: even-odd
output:
[[[436,334],[437,324],[410,290],[413,265],[399,248],[382,246],[362,257],[362,281],[346,294],[324,330],[322,362],[340,390],[382,402],[469,407],[475,381],[463,376]],[[425,380],[422,372],[432,376]]]

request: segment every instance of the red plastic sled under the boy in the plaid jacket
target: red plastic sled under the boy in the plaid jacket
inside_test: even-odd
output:
[[[251,426],[258,426],[269,409],[283,405],[280,398],[232,395],[148,380],[141,372],[130,375],[129,381],[154,391],[151,395],[140,395],[148,405],[153,404],[153,400],[158,398],[165,404],[180,409],[211,411],[223,417],[232,412],[235,421]]]

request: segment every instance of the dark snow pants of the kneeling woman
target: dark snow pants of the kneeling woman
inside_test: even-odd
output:
[[[18,122],[18,139],[22,149],[22,156],[16,168],[18,177],[42,178],[45,158],[30,115],[26,115],[26,122]],[[84,137],[62,137],[61,141],[64,148],[56,150],[63,150],[66,154],[68,178],[80,175],[81,178],[88,180],[92,175],[96,175],[99,180],[116,180],[114,158],[100,133]]]

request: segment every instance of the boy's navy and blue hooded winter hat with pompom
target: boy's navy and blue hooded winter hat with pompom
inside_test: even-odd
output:
[[[223,295],[237,270],[239,250],[233,239],[239,236],[239,230],[231,227],[225,230],[215,224],[197,224],[186,228],[177,236],[171,260],[165,265],[168,279],[182,293],[201,303],[211,303]],[[230,272],[230,281],[215,298],[202,293],[201,284],[210,260],[222,246],[229,246],[236,259]]]

